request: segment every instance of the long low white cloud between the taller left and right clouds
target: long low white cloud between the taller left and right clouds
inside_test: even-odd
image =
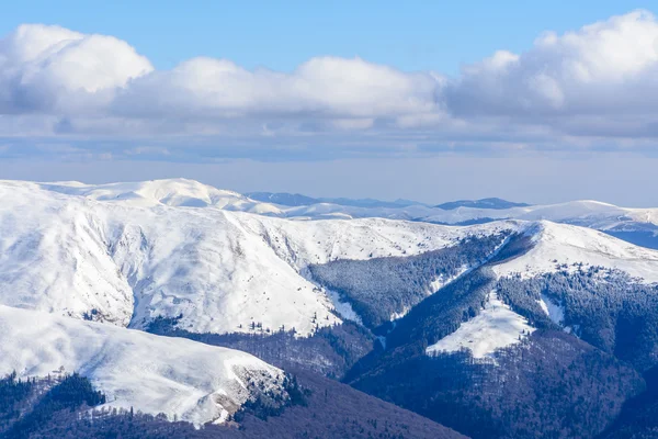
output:
[[[114,110],[139,116],[398,117],[435,112],[440,83],[431,74],[404,74],[360,58],[313,58],[292,74],[194,58],[134,81]]]

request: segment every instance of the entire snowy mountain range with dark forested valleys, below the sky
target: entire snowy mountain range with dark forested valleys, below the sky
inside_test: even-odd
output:
[[[122,437],[133,410],[152,437],[656,432],[656,209],[183,179],[1,181],[0,198],[0,434],[73,372]],[[19,380],[43,384],[19,397]]]

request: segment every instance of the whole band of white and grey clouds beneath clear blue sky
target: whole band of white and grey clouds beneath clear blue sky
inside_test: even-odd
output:
[[[499,50],[457,77],[329,56],[292,72],[203,57],[156,70],[127,42],[43,24],[0,40],[4,156],[646,150],[656,121],[658,21],[647,11],[547,32],[526,52]]]

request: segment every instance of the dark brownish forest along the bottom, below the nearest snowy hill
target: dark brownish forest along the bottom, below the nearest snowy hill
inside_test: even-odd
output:
[[[164,415],[145,415],[133,409],[90,409],[87,403],[98,402],[95,399],[98,394],[90,393],[88,385],[82,384],[80,378],[76,378],[49,398],[64,402],[57,406],[64,409],[53,410],[50,416],[39,418],[38,423],[31,423],[29,429],[22,429],[20,436],[11,437],[31,439],[456,439],[461,437],[429,419],[377,401],[344,384],[305,371],[296,371],[296,374],[299,375],[299,380],[290,378],[285,385],[291,394],[291,401],[297,397],[302,397],[303,401],[288,405],[285,410],[279,410],[276,414],[263,413],[263,407],[257,407],[258,403],[256,403],[240,414],[240,423],[208,424],[200,428],[189,423],[169,421]],[[20,390],[25,385],[31,386],[30,392]],[[53,385],[55,382],[48,380],[19,382],[15,376],[8,378],[1,381],[0,401],[4,404],[11,403],[11,406],[21,405],[26,399],[31,399],[31,395],[36,395],[38,392],[35,390],[39,387],[45,390],[45,393],[42,394],[37,405],[46,404],[43,395],[48,395],[56,386]],[[73,397],[73,395],[78,396]],[[30,415],[26,413],[23,416]],[[7,437],[2,432],[0,436]]]

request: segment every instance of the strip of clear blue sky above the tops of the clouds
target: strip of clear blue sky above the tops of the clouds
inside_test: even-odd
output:
[[[558,33],[658,1],[49,1],[2,8],[0,35],[58,24],[131,43],[159,69],[194,56],[290,71],[319,55],[360,56],[402,70],[456,74],[495,50],[527,49]]]

